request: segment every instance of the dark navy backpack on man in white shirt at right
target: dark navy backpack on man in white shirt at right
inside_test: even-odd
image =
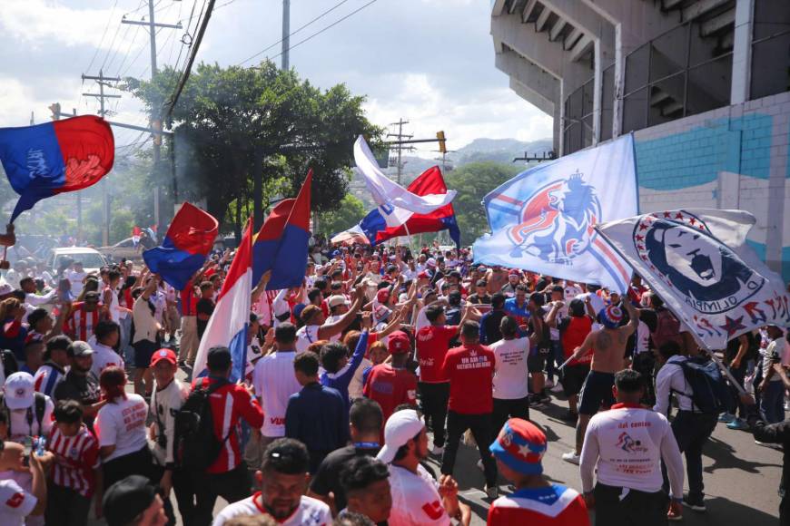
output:
[[[719,414],[727,410],[732,401],[732,394],[725,376],[722,375],[715,361],[707,356],[698,356],[676,362],[676,365],[680,365],[683,369],[691,393],[680,391],[675,393],[691,398],[697,413]]]

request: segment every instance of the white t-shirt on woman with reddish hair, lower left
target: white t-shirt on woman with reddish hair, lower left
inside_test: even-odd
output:
[[[134,394],[126,395],[126,400],[118,400],[99,409],[94,424],[99,435],[99,446],[115,446],[115,451],[104,459],[105,463],[143,449],[147,442],[146,414],[148,404],[143,396]]]

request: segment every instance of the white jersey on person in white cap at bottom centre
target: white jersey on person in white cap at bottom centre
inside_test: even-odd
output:
[[[449,525],[449,515],[441,506],[439,484],[421,465],[417,466],[417,474],[414,474],[390,464],[390,493],[392,511],[387,521],[390,526]]]

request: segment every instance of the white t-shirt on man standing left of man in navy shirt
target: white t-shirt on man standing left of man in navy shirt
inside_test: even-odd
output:
[[[263,436],[285,436],[285,410],[288,399],[299,393],[301,385],[293,373],[294,352],[272,353],[262,357],[252,373],[252,386],[263,408]]]

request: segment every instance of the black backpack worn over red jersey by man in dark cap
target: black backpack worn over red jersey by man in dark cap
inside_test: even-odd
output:
[[[218,381],[209,387],[196,388],[184,400],[173,420],[173,451],[175,463],[190,470],[203,472],[217,460],[222,445],[231,436],[219,440],[214,434],[214,419],[209,397],[227,381]]]

